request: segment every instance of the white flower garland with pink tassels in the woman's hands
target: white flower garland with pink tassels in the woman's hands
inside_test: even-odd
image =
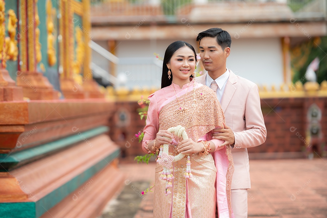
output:
[[[168,129],[168,131],[171,132],[172,134],[174,134],[175,136],[182,138],[182,140],[188,139],[185,128],[182,127],[181,125],[178,125],[176,127],[171,127]],[[166,137],[166,138],[169,139],[168,137]],[[171,191],[169,190],[169,187],[173,187],[172,180],[174,179],[174,176],[170,172],[170,167],[172,165],[172,162],[177,162],[186,156],[186,154],[182,154],[182,153],[180,153],[176,156],[169,155],[168,150],[169,150],[168,144],[161,145],[160,152],[159,152],[158,159],[157,159],[157,162],[160,165],[163,165],[163,172],[160,175],[160,179],[166,180],[166,189],[165,189],[166,196],[171,193]],[[190,154],[187,155],[186,170],[184,173],[184,177],[185,178],[193,177],[193,175],[191,173]]]

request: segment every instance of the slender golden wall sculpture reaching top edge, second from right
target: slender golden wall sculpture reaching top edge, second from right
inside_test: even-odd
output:
[[[54,36],[54,16],[56,15],[56,9],[52,8],[52,2],[47,0],[46,2],[46,29],[48,32],[48,63],[50,66],[53,66],[57,63],[56,49],[55,49],[55,36]]]

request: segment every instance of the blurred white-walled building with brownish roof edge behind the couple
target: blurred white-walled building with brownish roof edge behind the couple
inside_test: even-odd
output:
[[[93,51],[95,73],[122,74],[129,89],[159,88],[154,53],[163,57],[176,40],[198,51],[197,34],[220,27],[232,36],[229,69],[259,85],[289,83],[290,48],[327,34],[326,10],[326,0],[92,0],[92,40],[118,57]]]

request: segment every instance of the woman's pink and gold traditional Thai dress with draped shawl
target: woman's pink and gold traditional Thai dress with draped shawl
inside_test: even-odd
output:
[[[188,137],[194,141],[212,140],[216,147],[223,143],[222,140],[212,139],[209,134],[215,128],[223,128],[225,123],[216,94],[211,88],[194,82],[182,88],[172,83],[148,97],[150,104],[142,143],[145,152],[145,142],[155,139],[160,129],[167,130],[178,125],[185,127]],[[175,113],[181,106],[186,110],[182,118]],[[174,146],[169,146],[169,155],[177,154]],[[186,158],[173,162],[170,169],[174,176],[173,187],[167,196],[166,181],[159,179],[163,166],[157,163],[153,217],[215,218],[217,203],[219,218],[233,218],[230,192],[234,166],[230,146],[207,155],[190,155],[192,178],[184,177]]]

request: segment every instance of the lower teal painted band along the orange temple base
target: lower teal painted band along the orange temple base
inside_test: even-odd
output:
[[[63,184],[58,189],[50,192],[42,199],[38,199],[36,202],[0,203],[1,218],[39,218],[43,213],[47,212],[47,210],[54,207],[71,193],[74,193],[73,200],[77,200],[80,193],[85,191],[87,187],[92,186],[93,180],[90,178],[97,175],[96,173],[101,172],[113,159],[119,157],[119,154],[120,149],[117,148],[117,150],[109,154],[106,158]],[[77,189],[87,181],[88,185]]]

